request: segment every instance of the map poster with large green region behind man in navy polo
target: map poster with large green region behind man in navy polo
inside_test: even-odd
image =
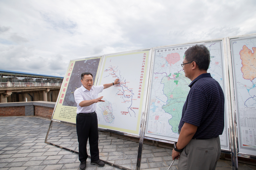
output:
[[[197,44],[203,44],[210,50],[211,63],[207,72],[211,73],[211,76],[219,82],[225,94],[223,39]],[[193,45],[195,44],[153,49],[153,71],[151,71],[146,137],[178,141],[178,125],[183,105],[190,90],[188,85],[191,83],[191,80],[185,77],[181,64],[185,51]],[[227,95],[225,97],[227,99]],[[229,150],[227,112],[227,102],[225,102],[225,127],[220,136],[221,148],[225,150]]]

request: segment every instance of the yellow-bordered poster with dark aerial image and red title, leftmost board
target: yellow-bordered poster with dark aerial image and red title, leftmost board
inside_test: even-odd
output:
[[[52,119],[76,123],[77,104],[75,102],[74,92],[82,85],[81,73],[90,72],[93,74],[93,80],[95,80],[100,61],[101,57],[70,61]]]

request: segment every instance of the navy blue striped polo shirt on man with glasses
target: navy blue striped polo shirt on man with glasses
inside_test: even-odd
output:
[[[198,127],[193,139],[218,137],[224,129],[224,93],[219,83],[210,73],[204,73],[195,78],[189,87],[179,130],[187,122]]]

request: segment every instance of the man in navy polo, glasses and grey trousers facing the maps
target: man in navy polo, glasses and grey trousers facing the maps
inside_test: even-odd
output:
[[[224,93],[219,83],[207,73],[210,52],[205,46],[188,48],[181,65],[192,82],[183,106],[172,159],[179,158],[179,170],[213,170],[221,153],[219,135],[224,129]]]

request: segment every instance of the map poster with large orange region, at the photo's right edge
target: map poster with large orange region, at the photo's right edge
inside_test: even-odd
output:
[[[239,153],[256,155],[256,35],[229,41]]]

